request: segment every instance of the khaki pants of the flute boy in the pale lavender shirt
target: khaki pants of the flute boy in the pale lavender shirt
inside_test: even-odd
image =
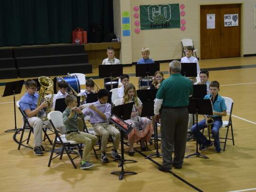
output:
[[[109,122],[96,123],[93,126],[93,129],[97,134],[101,135],[101,151],[107,151],[107,144],[110,135],[114,137],[113,149],[117,150],[119,148],[120,132],[112,125],[109,125]]]

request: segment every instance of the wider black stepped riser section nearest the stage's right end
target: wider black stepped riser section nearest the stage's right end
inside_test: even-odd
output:
[[[13,48],[21,78],[92,73],[83,45],[58,45]]]

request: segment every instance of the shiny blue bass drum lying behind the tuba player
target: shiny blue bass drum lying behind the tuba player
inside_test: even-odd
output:
[[[57,92],[59,91],[58,82],[63,80],[62,78],[65,80],[65,82],[69,84],[69,86],[73,88],[75,92],[80,93],[81,89],[80,89],[78,76],[73,75],[73,76],[65,76],[65,77],[55,77],[54,78],[54,94],[57,94]],[[70,92],[69,86],[68,86],[68,92]]]

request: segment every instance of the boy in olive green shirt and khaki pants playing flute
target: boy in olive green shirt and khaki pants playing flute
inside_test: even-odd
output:
[[[66,125],[66,140],[75,141],[77,143],[84,143],[82,151],[82,164],[81,169],[92,167],[93,164],[89,163],[91,150],[93,149],[97,137],[93,134],[80,132],[78,130],[78,116],[84,118],[82,111],[77,108],[77,99],[74,95],[67,95],[65,98],[67,108],[63,112],[63,124]],[[80,154],[81,151],[79,151]]]

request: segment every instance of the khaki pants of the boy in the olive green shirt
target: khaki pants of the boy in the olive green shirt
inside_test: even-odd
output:
[[[82,161],[90,161],[91,150],[97,142],[97,137],[95,135],[84,132],[73,132],[66,134],[65,138],[67,140],[72,140],[78,143],[84,143]]]

